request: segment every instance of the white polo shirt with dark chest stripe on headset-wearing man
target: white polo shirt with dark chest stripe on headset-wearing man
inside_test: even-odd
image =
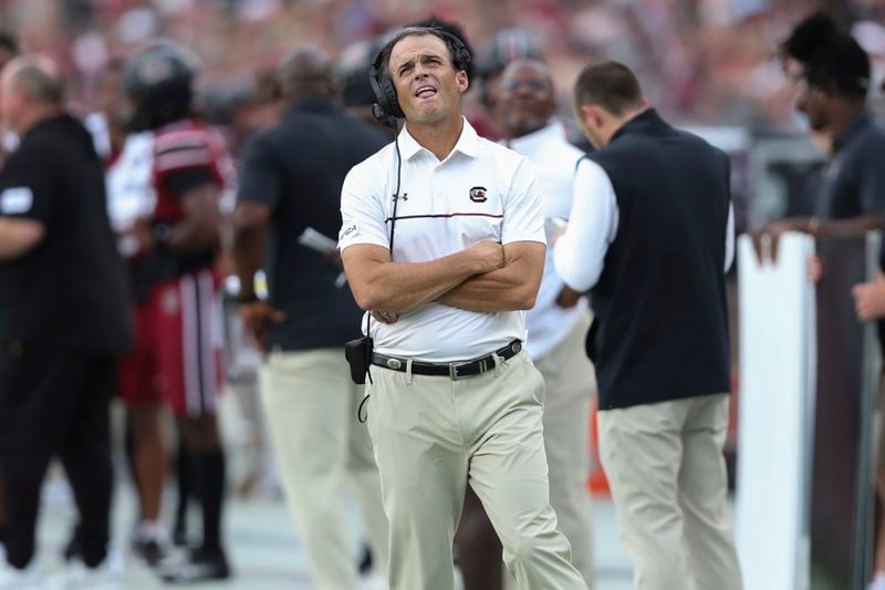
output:
[[[396,262],[426,262],[481,240],[545,244],[541,198],[531,163],[477,135],[464,121],[451,153],[439,162],[409,135],[399,133],[402,183],[396,209]],[[396,193],[396,149],[389,144],[357,164],[344,179],[339,248],[389,246]],[[488,354],[514,339],[525,340],[522,311],[482,313],[437,302],[372,322],[375,350],[419,361],[449,362]]]

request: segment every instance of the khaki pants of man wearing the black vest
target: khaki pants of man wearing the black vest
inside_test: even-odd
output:
[[[637,590],[740,590],[722,444],[728,395],[598,414],[600,455]]]

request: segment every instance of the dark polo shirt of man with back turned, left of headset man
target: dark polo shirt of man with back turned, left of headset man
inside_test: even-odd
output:
[[[350,288],[335,284],[341,268],[298,238],[310,227],[336,239],[344,177],[389,142],[315,97],[292,105],[246,147],[238,200],[272,209],[264,272],[270,304],[285,311],[266,339],[268,350],[340,348],[358,337],[362,312]]]

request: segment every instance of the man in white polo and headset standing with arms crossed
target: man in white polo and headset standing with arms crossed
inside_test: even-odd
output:
[[[389,583],[454,588],[469,483],[523,588],[585,589],[550,507],[544,384],[521,344],[521,310],[543,270],[540,196],[529,162],[461,115],[468,60],[436,29],[394,37],[374,82],[384,114],[406,127],[342,190],[344,269],[381,320],[369,330],[368,432],[391,521]]]

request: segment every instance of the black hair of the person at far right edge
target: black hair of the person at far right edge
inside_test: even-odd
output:
[[[815,12],[796,24],[779,49],[781,59],[792,58],[802,64],[809,85],[843,96],[866,97],[870,56],[829,13]]]

